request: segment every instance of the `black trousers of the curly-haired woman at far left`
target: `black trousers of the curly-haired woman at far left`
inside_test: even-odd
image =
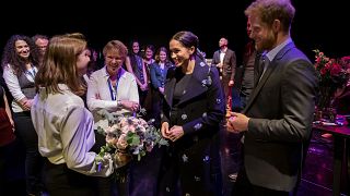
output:
[[[31,112],[13,113],[15,131],[25,146],[26,192],[36,194],[43,191],[42,169],[44,158],[38,151],[38,137],[33,126]]]

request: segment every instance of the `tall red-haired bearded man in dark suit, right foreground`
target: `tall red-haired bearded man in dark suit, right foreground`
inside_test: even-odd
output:
[[[229,131],[244,133],[244,167],[235,195],[288,195],[300,180],[317,77],[290,37],[294,13],[290,0],[256,0],[245,11],[265,61],[247,106],[231,113],[226,124]]]

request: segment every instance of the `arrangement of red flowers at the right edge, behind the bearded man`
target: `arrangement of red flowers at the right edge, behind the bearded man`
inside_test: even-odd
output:
[[[330,59],[318,49],[313,50],[315,56],[315,69],[319,78],[318,109],[330,107],[330,100],[335,90],[346,85],[350,75],[350,58]]]

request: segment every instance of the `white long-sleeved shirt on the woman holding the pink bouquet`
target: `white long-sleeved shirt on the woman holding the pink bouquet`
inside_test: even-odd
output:
[[[67,85],[59,84],[59,88],[62,93],[47,94],[40,88],[31,109],[40,155],[86,175],[108,176],[113,173],[112,160],[106,160],[98,172],[93,168],[96,154],[90,151],[95,143],[91,112]]]

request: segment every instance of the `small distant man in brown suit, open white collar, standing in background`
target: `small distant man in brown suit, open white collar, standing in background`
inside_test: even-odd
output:
[[[220,49],[214,52],[211,65],[219,70],[220,81],[225,94],[225,100],[231,96],[230,88],[234,85],[234,74],[236,69],[236,54],[233,50],[228,48],[229,40],[222,37],[219,40]]]

